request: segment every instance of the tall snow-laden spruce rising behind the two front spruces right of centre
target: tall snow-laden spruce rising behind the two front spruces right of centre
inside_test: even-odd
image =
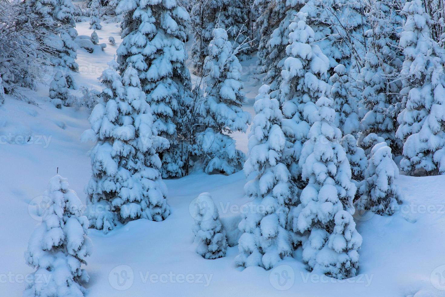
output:
[[[309,117],[316,110],[315,102],[320,97],[328,96],[331,90],[327,83],[329,59],[314,44],[314,31],[306,24],[306,17],[306,13],[299,12],[289,25],[288,57],[283,61],[283,81],[279,88],[284,115],[283,132],[293,144],[293,153],[287,163],[292,179],[300,188],[303,185],[299,178],[301,168],[298,159],[301,146],[308,139]]]

